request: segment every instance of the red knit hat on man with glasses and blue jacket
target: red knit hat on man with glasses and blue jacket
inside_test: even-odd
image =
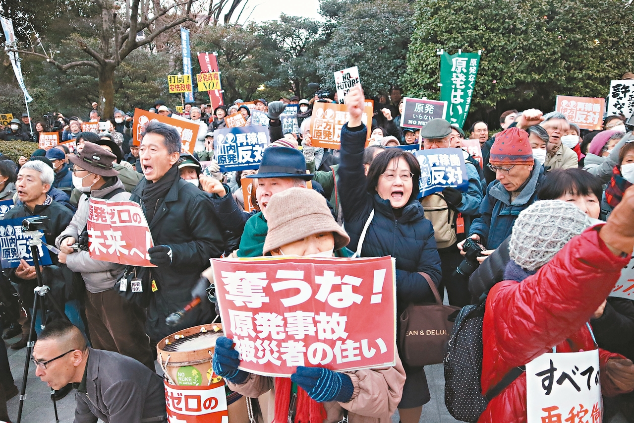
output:
[[[495,136],[489,163],[494,166],[515,164],[534,164],[533,150],[528,142],[528,133],[524,129],[511,127]]]

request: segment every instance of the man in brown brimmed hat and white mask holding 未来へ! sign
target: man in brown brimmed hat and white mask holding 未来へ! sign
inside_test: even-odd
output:
[[[86,141],[69,160],[73,164],[73,185],[82,192],[77,212],[57,237],[59,261],[79,272],[86,283],[86,320],[94,348],[130,356],[154,370],[150,339],[145,334],[145,311],[113,290],[126,266],[92,259],[87,247],[90,198],[129,200],[119,172],[113,169],[117,157],[102,146]],[[74,247],[79,244],[78,247]]]

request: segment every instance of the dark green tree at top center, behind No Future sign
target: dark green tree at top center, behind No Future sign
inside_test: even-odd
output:
[[[366,93],[385,92],[398,82],[414,29],[406,0],[321,0],[326,44],[317,60],[322,86],[334,89],[333,72],[358,66]]]

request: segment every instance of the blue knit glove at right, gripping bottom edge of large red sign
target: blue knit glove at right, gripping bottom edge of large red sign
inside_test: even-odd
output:
[[[354,387],[350,376],[327,368],[297,366],[297,372],[290,376],[290,380],[301,386],[318,403],[347,403],[353,397]]]

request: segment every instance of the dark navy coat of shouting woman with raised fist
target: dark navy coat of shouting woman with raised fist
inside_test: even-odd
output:
[[[344,226],[350,235],[348,248],[356,251],[361,231],[370,212],[374,218],[366,233],[361,256],[396,258],[396,298],[398,313],[410,303],[434,301],[425,272],[438,285],[441,280],[440,256],[434,240],[434,227],[425,219],[423,207],[416,198],[403,207],[400,218],[394,216],[389,200],[366,191],[363,172],[363,148],[366,127],[341,131],[339,181]]]

